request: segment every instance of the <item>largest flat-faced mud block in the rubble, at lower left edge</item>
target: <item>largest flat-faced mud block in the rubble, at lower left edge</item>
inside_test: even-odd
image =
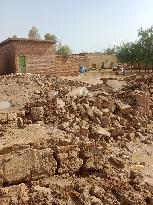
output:
[[[1,178],[3,183],[15,183],[31,178],[39,179],[52,176],[56,170],[56,161],[51,149],[24,149],[4,154],[0,157]]]

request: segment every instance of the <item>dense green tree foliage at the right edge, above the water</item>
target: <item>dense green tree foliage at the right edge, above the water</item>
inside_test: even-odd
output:
[[[138,40],[122,43],[116,47],[115,55],[121,63],[153,66],[153,26],[146,30],[139,29]]]

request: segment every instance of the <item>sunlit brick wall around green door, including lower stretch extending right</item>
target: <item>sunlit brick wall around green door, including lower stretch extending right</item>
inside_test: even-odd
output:
[[[88,67],[88,60],[82,56],[69,56],[64,58],[55,54],[55,46],[47,43],[16,42],[16,67],[18,69],[18,56],[24,55],[26,72],[50,75],[78,75],[80,65]]]

